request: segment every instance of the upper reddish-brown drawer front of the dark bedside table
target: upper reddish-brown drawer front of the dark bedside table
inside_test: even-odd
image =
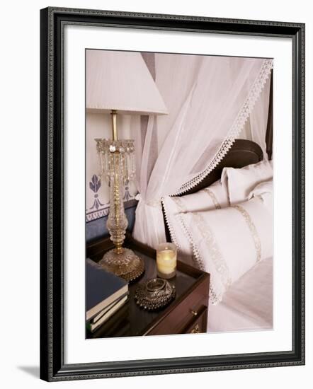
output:
[[[208,299],[209,281],[205,279],[202,283],[195,286],[188,296],[182,296],[181,301],[144,335],[185,333],[186,327],[190,327],[190,323],[198,320],[200,315],[203,317],[203,310],[207,309]],[[202,323],[201,329],[203,326],[206,327],[206,316],[203,320],[205,322]]]

